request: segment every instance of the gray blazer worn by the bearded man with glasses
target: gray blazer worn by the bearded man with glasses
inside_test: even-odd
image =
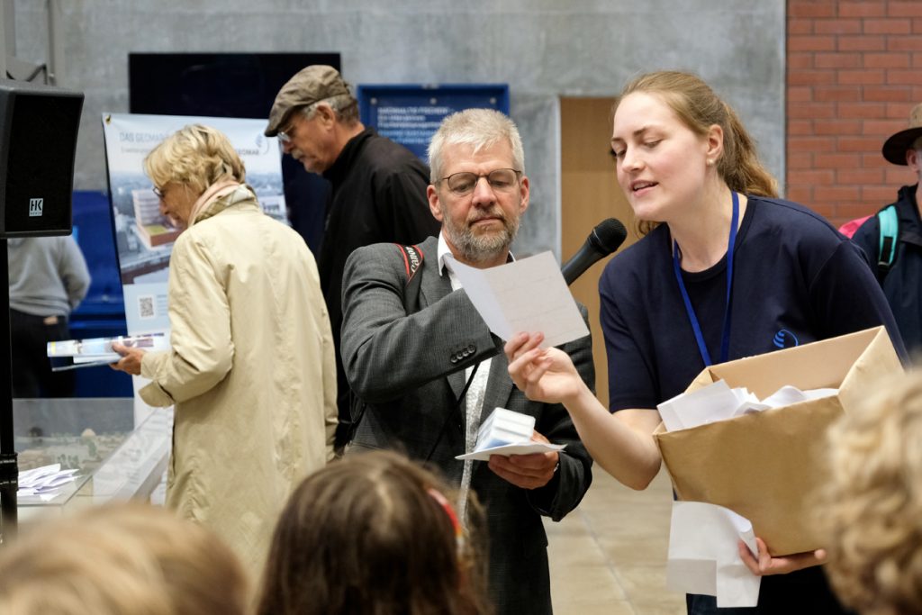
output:
[[[540,515],[559,521],[576,507],[592,482],[592,459],[573,421],[559,404],[529,401],[506,371],[502,342],[493,337],[464,290],[452,291],[439,275],[438,239],[420,244],[423,264],[420,310],[406,313],[407,270],[393,243],[357,249],[343,277],[341,350],[349,384],[368,406],[353,448],[389,448],[411,458],[430,454],[446,416],[452,417],[430,457],[455,486],[464,462],[465,402],[455,401],[465,385],[464,370],[492,357],[484,412],[497,406],[536,418],[536,430],[552,443],[567,444],[550,483],[524,490],[474,462],[471,487],[487,512],[490,589],[497,613],[550,613],[548,539]],[[585,318],[585,308],[580,306]],[[585,382],[594,387],[590,337],[563,347]]]

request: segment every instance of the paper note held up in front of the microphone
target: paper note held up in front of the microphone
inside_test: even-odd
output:
[[[589,335],[553,254],[542,252],[514,263],[478,269],[455,259],[455,276],[490,330],[502,339],[543,333],[542,348]]]

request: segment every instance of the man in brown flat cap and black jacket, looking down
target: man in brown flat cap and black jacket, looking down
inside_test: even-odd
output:
[[[341,447],[350,420],[349,383],[339,353],[343,268],[363,245],[412,244],[438,234],[440,225],[426,198],[429,168],[407,148],[361,124],[358,102],[332,66],[307,66],[282,86],[266,136],[278,136],[286,154],[333,185],[317,267],[337,347]]]

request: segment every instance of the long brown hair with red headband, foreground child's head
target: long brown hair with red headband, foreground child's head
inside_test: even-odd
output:
[[[305,479],[278,520],[261,615],[476,615],[483,516],[462,531],[443,481],[405,456],[351,455]]]

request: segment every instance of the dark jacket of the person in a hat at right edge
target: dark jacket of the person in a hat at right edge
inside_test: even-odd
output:
[[[910,356],[922,352],[922,221],[916,204],[916,185],[900,188],[893,204],[899,220],[899,237],[889,272],[881,274],[877,266],[881,250],[881,222],[877,216],[871,216],[852,238],[868,255]]]

